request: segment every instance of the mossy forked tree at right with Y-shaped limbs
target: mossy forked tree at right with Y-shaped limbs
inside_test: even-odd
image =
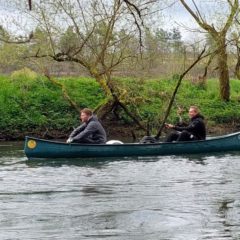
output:
[[[207,31],[213,38],[216,44],[217,50],[217,64],[219,71],[219,84],[220,84],[220,97],[224,101],[229,101],[230,99],[230,85],[229,85],[229,69],[227,63],[227,41],[226,36],[227,32],[233,24],[234,17],[239,10],[239,1],[238,0],[229,0],[226,1],[229,8],[229,14],[226,17],[226,21],[221,26],[217,27],[214,24],[210,24],[205,20],[205,17],[201,15],[196,3],[192,0],[193,5],[195,6],[195,11],[190,7],[185,0],[180,0],[185,9],[192,15],[198,25]]]

